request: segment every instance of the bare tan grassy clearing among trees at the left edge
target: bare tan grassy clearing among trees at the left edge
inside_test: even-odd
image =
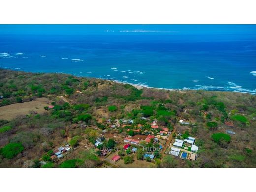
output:
[[[37,98],[30,102],[15,103],[0,107],[0,119],[12,120],[18,115],[27,115],[30,111],[45,112],[44,107],[51,101],[48,98]]]

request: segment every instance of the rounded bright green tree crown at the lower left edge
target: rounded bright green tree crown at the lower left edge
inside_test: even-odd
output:
[[[21,143],[9,143],[1,149],[1,154],[7,159],[12,159],[23,150],[24,147]]]

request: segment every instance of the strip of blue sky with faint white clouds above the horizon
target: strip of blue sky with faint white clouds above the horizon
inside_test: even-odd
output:
[[[3,34],[256,34],[256,25],[0,25]]]

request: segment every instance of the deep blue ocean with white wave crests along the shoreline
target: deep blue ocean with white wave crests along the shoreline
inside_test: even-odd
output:
[[[2,34],[0,67],[147,87],[256,93],[256,36]]]

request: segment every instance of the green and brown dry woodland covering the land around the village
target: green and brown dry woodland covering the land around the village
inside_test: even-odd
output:
[[[161,89],[136,89],[94,78],[67,74],[26,73],[0,69],[0,107],[49,98],[54,108],[43,114],[31,111],[13,120],[0,120],[0,167],[104,167],[93,146],[103,130],[135,135],[133,125],[109,128],[105,119],[132,119],[142,130],[157,120],[173,129],[178,118],[191,122],[186,128],[176,124],[185,138],[196,138],[200,147],[196,161],[160,155],[151,167],[256,167],[256,96],[245,93]],[[62,96],[66,98],[62,99]],[[186,113],[183,113],[187,110]],[[142,119],[145,117],[145,119]],[[225,122],[232,122],[229,128]],[[232,130],[236,134],[226,134]],[[53,149],[69,143],[74,150],[62,160],[53,161]],[[106,146],[118,143],[107,138]],[[90,145],[91,144],[91,145]],[[91,146],[91,147],[90,147]],[[119,152],[122,154],[122,150]],[[132,163],[137,156],[124,154]],[[44,161],[47,164],[40,164]]]

